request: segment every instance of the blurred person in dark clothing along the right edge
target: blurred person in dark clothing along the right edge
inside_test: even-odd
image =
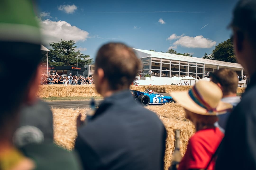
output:
[[[256,0],[238,2],[231,27],[237,60],[250,83],[228,119],[216,169],[256,169]]]

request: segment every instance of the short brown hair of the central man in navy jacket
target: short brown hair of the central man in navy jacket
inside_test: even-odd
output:
[[[98,50],[95,71],[102,68],[112,90],[129,88],[140,66],[134,50],[123,43],[107,43]]]

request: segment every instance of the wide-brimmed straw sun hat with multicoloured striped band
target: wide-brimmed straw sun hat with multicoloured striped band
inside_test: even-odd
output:
[[[221,89],[211,81],[199,81],[188,91],[171,92],[174,101],[185,109],[202,115],[224,114],[232,108],[229,103],[221,101]]]

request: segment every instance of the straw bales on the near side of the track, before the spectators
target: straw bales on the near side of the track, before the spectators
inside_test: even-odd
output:
[[[195,133],[195,127],[185,118],[185,111],[178,103],[166,103],[145,108],[155,112],[167,130],[164,169],[168,170],[172,160],[172,153],[175,149],[175,129],[180,130],[180,152],[184,156],[188,140]],[[74,148],[74,142],[77,137],[76,118],[81,113],[84,120],[87,110],[52,109],[54,116],[54,140],[58,145],[68,150]]]

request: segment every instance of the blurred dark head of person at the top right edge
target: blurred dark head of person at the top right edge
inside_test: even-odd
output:
[[[256,1],[239,1],[230,26],[237,60],[252,75],[256,71]]]

